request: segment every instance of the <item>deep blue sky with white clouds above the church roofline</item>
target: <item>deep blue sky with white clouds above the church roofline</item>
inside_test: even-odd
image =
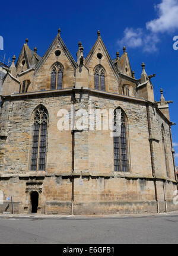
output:
[[[36,46],[43,56],[58,27],[72,56],[76,58],[79,40],[87,56],[100,30],[112,58],[126,46],[136,78],[141,75],[142,62],[148,75],[156,74],[152,78],[155,100],[160,100],[163,88],[165,99],[174,102],[170,119],[178,125],[178,50],[173,49],[173,37],[178,36],[178,0],[3,1],[1,10],[1,56],[18,57],[26,37],[28,46]],[[178,166],[177,125],[172,132]]]

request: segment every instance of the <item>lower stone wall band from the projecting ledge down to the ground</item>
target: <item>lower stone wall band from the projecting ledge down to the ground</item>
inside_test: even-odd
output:
[[[72,182],[68,176],[30,176],[0,178],[0,213],[12,213],[11,195],[14,200],[14,213],[30,213],[31,192],[38,194],[37,213],[42,214],[136,214],[157,213],[154,182],[148,178],[124,177],[82,177],[74,179],[74,203]],[[175,182],[157,180],[158,206],[160,213],[178,210],[174,204]],[[166,201],[164,201],[166,198]],[[176,201],[177,203],[177,201]],[[73,208],[72,208],[73,206]]]

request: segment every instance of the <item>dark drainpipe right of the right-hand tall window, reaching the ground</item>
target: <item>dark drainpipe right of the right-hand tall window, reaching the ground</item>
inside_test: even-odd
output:
[[[158,196],[157,196],[157,184],[156,184],[156,178],[155,178],[155,166],[154,166],[154,159],[153,159],[154,151],[153,151],[153,146],[152,146],[151,122],[150,122],[150,112],[149,112],[148,103],[146,104],[146,107],[147,107],[148,132],[149,132],[149,142],[150,142],[151,167],[152,167],[152,176],[153,176],[154,189],[155,189],[155,200],[157,202],[157,213],[160,213]]]

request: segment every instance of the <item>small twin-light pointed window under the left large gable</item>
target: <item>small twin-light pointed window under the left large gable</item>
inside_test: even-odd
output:
[[[57,62],[52,67],[51,72],[51,81],[50,81],[50,89],[62,89],[63,82],[63,66],[61,63]]]

